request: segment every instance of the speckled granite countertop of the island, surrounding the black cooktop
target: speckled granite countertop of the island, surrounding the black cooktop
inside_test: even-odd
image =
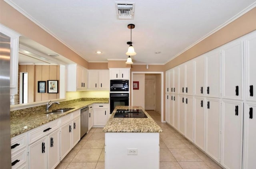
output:
[[[117,109],[142,109],[148,118],[114,118]],[[162,129],[141,106],[116,106],[110,116],[105,133],[161,133]]]

